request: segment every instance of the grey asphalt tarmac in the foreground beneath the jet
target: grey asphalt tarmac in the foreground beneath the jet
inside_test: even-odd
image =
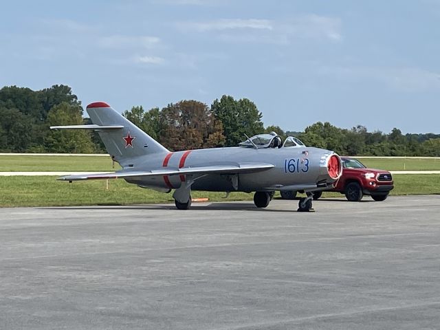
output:
[[[440,328],[440,196],[296,208],[0,209],[0,329]]]

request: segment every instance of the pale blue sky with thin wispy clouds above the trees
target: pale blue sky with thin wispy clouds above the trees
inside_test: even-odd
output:
[[[265,126],[440,133],[440,0],[5,1],[0,87],[118,111],[249,98]]]

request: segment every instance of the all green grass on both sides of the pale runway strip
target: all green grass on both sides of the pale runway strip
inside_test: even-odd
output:
[[[440,170],[440,159],[362,159],[372,168],[386,170]],[[110,157],[82,156],[0,156],[0,172],[8,171],[111,171]],[[394,175],[391,195],[440,194],[440,175]],[[279,196],[277,192],[276,196]],[[325,192],[323,197],[341,197]],[[228,199],[220,192],[192,192],[192,197],[210,201],[252,200],[253,194],[232,192]],[[365,197],[369,198],[369,197]],[[0,177],[0,207],[127,205],[137,203],[173,203],[172,194],[137,188],[122,179],[81,181],[68,184],[56,177]]]

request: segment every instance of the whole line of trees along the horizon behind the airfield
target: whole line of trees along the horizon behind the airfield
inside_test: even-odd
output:
[[[49,126],[89,124],[72,89],[54,85],[32,91],[24,87],[0,89],[0,151],[21,153],[105,153],[96,133],[51,131]],[[236,146],[245,135],[275,131],[285,138],[294,135],[308,146],[340,155],[440,156],[440,134],[369,132],[364,126],[340,129],[316,122],[302,132],[264,126],[262,113],[247,98],[222,96],[210,106],[197,100],[181,100],[162,109],[132,107],[123,115],[171,151]]]

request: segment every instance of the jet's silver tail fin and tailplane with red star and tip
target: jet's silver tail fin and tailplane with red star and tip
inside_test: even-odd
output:
[[[168,153],[169,151],[124,118],[105,102],[94,102],[87,106],[92,125],[53,126],[52,129],[94,129],[98,131],[107,152],[122,167],[134,157]]]

